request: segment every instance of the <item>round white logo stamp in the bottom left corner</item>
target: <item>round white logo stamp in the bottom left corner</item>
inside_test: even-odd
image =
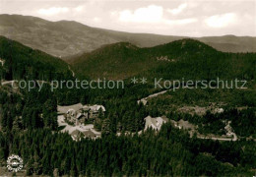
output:
[[[23,159],[16,154],[8,156],[7,169],[12,172],[18,172],[23,169]]]

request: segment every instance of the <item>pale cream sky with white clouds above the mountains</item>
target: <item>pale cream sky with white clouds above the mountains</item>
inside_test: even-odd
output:
[[[0,14],[129,32],[256,36],[256,0],[0,0]]]

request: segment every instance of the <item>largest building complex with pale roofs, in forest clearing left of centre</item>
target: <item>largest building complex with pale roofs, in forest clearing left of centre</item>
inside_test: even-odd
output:
[[[58,106],[58,114],[64,115],[65,119],[75,125],[84,124],[87,120],[95,121],[100,116],[103,116],[105,108],[102,105],[83,105],[81,103]]]

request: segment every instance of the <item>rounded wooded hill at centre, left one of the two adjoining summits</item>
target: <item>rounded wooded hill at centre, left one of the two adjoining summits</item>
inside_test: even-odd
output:
[[[158,64],[148,53],[129,42],[102,46],[70,60],[73,70],[90,78],[120,79],[146,71]]]

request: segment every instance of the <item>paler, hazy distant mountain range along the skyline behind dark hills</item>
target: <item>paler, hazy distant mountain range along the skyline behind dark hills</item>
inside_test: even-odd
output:
[[[64,59],[93,51],[105,44],[121,41],[127,41],[139,47],[152,47],[187,38],[97,29],[73,21],[49,22],[21,15],[0,15],[0,33],[34,49]],[[220,51],[256,52],[256,37],[224,35],[194,38]]]

